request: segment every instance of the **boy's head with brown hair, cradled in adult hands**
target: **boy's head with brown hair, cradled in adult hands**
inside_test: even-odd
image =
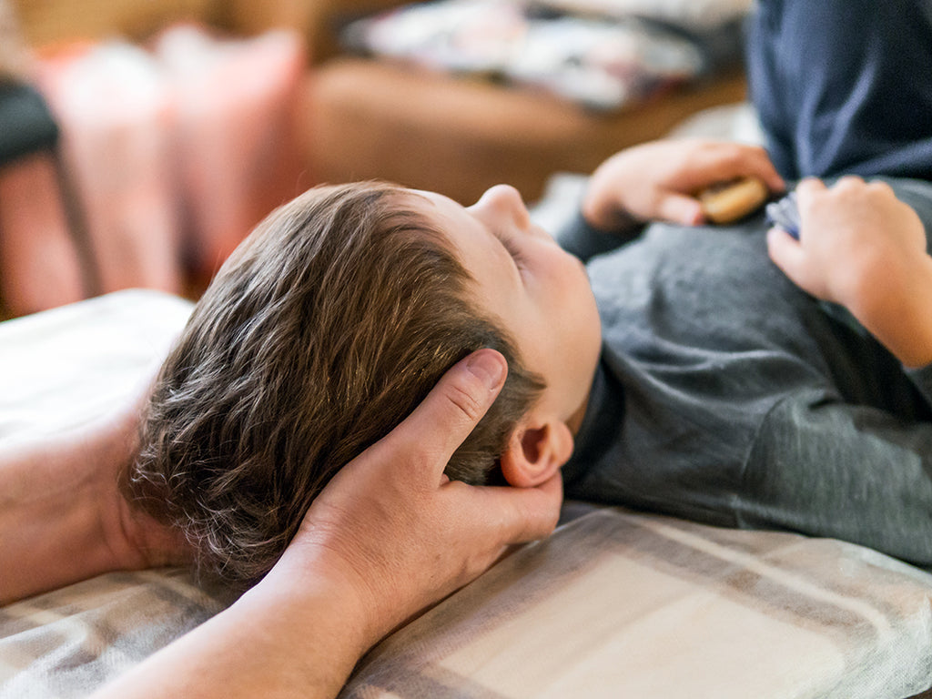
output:
[[[504,212],[508,192],[495,191],[465,210],[391,185],[312,189],[226,262],[162,367],[125,484],[185,532],[204,572],[240,584],[264,575],[336,470],[474,349],[498,349],[508,378],[447,475],[483,483],[500,466],[528,486],[569,458],[597,317],[594,341],[551,326],[548,299],[556,311],[567,300],[542,272],[569,273],[574,290],[582,278],[593,308],[573,315],[589,324],[592,296],[552,241],[524,250],[517,218],[485,223]],[[557,258],[540,244],[565,262],[544,266]]]

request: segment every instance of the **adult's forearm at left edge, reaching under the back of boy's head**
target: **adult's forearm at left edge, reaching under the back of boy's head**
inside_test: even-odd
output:
[[[119,492],[137,430],[130,405],[66,432],[0,444],[0,604],[109,570],[187,560],[179,535]]]

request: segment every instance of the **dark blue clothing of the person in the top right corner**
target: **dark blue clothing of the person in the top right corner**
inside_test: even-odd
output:
[[[751,97],[787,179],[932,180],[932,0],[758,0]]]

